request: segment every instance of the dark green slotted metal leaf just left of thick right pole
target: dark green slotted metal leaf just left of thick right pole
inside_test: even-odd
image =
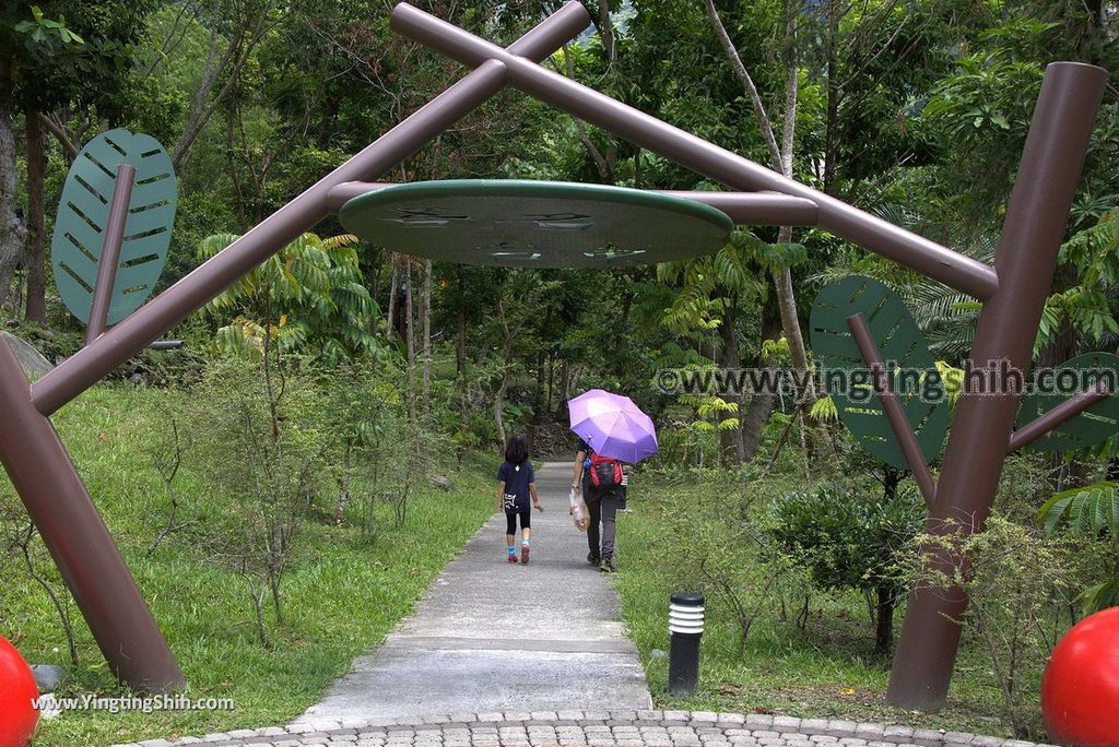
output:
[[[856,441],[881,461],[908,469],[882,401],[868,379],[847,318],[862,313],[890,370],[890,384],[901,400],[925,461],[940,453],[948,431],[944,385],[916,322],[896,293],[876,280],[852,275],[826,285],[809,320],[812,354],[825,387],[830,389],[839,419]],[[863,384],[844,389],[840,379]]]

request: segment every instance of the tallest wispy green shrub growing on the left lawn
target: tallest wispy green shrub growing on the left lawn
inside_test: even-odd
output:
[[[194,434],[186,458],[234,498],[228,520],[201,530],[199,549],[245,579],[266,647],[265,603],[283,625],[281,587],[332,442],[323,391],[295,362],[215,359],[182,408]]]

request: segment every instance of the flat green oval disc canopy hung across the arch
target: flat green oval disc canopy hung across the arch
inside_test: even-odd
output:
[[[355,197],[347,230],[394,252],[508,267],[603,267],[717,252],[734,223],[679,197],[605,185],[422,181]]]

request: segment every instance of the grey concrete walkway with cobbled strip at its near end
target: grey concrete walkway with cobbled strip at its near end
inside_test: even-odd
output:
[[[586,565],[585,536],[567,516],[570,469],[537,473],[545,511],[533,514],[527,567],[505,561],[505,517],[495,514],[416,613],[294,722],[117,747],[1035,747],[838,719],[652,710],[618,597]]]

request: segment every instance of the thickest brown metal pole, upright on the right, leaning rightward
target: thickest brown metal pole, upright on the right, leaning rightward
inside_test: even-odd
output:
[[[1091,65],[1054,63],[1046,68],[996,254],[998,293],[984,304],[976,328],[975,366],[1005,360],[1023,374],[1029,369],[1106,79],[1107,73]],[[925,529],[930,535],[966,536],[982,530],[1017,406],[1017,391],[961,394],[937,504]],[[967,571],[966,558],[956,552],[930,550],[925,562],[947,578],[955,578],[960,566]],[[912,592],[887,702],[921,710],[943,706],[966,609],[962,588],[919,586]]]

